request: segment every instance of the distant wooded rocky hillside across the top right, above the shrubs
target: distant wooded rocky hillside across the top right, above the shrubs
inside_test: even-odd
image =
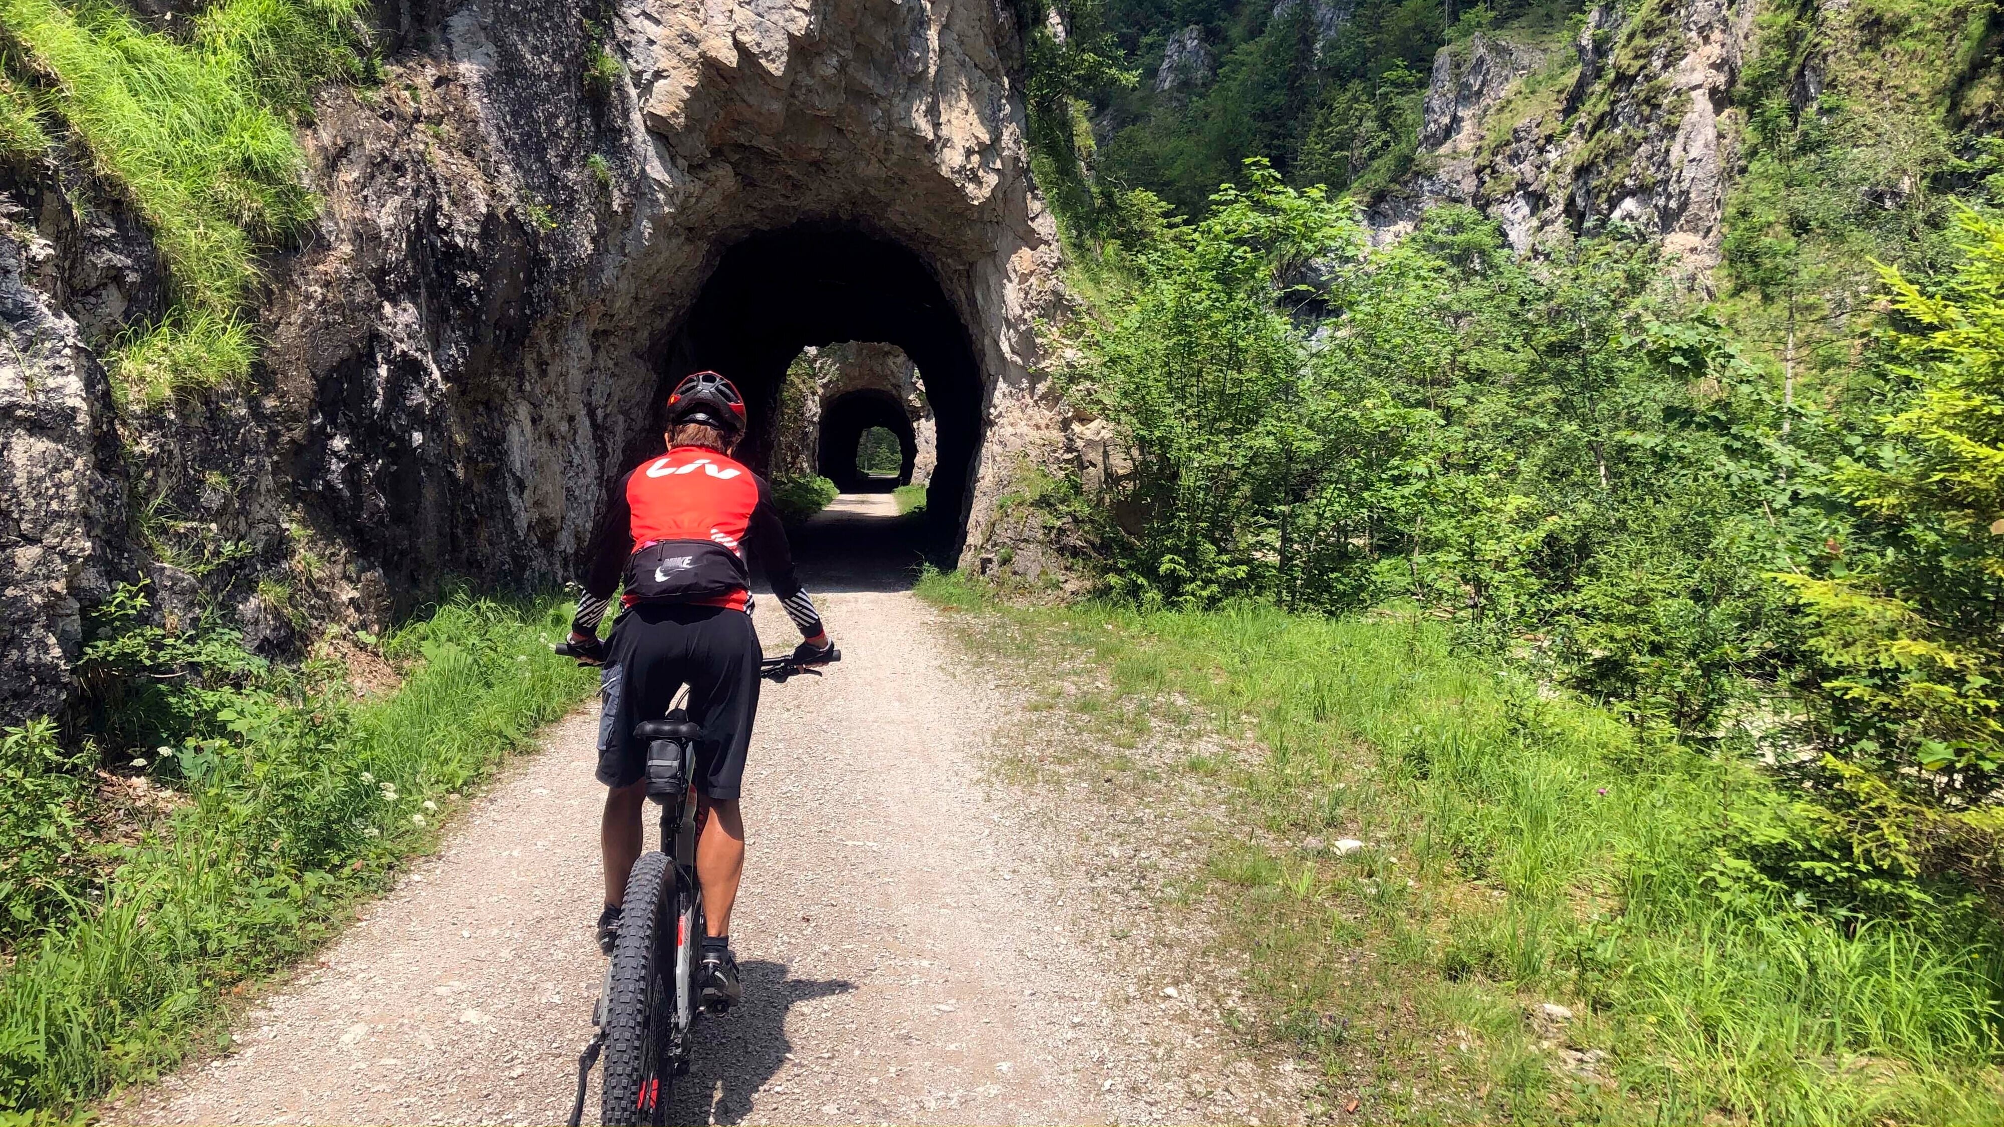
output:
[[[1705,293],[1735,207],[1749,237],[1780,223],[1856,251],[1870,231],[1900,257],[1894,229],[1970,182],[1998,110],[2000,16],[1968,0],[1116,0],[1108,20],[1140,74],[1096,104],[1116,182],[1194,209],[1263,156],[1349,191],[1381,241],[1439,203],[1487,211],[1519,251],[1627,223]],[[1820,215],[1756,201],[1778,164]]]

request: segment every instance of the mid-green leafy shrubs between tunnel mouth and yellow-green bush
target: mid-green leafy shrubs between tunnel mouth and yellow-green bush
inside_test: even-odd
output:
[[[1255,164],[1064,345],[1130,471],[1088,513],[1112,594],[1355,610],[1413,598],[1633,718],[1703,736],[1788,660],[1760,511],[1762,377],[1621,233],[1543,263],[1435,209],[1361,255]],[[1782,507],[1776,503],[1774,507]]]

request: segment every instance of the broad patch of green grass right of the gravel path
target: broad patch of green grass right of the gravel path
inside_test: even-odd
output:
[[[1042,668],[1104,670],[1048,704],[1118,726],[1186,700],[1257,736],[1257,766],[1182,764],[1267,830],[1214,846],[1224,941],[1363,1119],[2004,1119],[1994,926],[1749,894],[1733,850],[1788,802],[1747,764],[1645,746],[1407,616],[1008,608],[952,576],[920,594]],[[1575,1019],[1539,1029],[1547,1001]],[[1391,1029],[1401,1007],[1417,1031]]]

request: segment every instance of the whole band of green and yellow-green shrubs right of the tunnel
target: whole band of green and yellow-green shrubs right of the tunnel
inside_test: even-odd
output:
[[[1108,592],[1415,604],[1800,782],[1733,894],[2004,902],[2004,223],[1966,213],[1948,273],[1888,269],[1852,395],[1784,403],[1621,229],[1521,259],[1443,207],[1361,253],[1347,205],[1261,164],[1196,223],[1132,213],[1062,339],[1118,435],[1070,497]]]

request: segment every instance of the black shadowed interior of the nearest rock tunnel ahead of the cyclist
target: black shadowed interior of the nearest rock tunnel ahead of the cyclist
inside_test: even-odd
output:
[[[896,243],[846,229],[788,227],[729,247],[655,357],[661,373],[655,403],[691,371],[727,375],[743,391],[752,417],[739,457],[764,473],[788,365],[808,345],[838,341],[890,343],[918,367],[934,413],[938,451],[926,511],[936,547],[958,553],[966,535],[968,481],[982,441],[982,373],[966,325],[940,283],[918,255]],[[852,397],[836,403],[846,399]],[[884,401],[892,411],[882,411],[882,403],[872,405],[864,395],[840,413],[848,417],[854,411],[860,419],[848,439],[852,479],[858,477],[856,437],[870,425],[900,435],[904,477],[910,477],[916,449],[912,421],[894,397],[884,395]],[[824,421],[824,439],[826,427]],[[653,441],[659,445],[657,437]],[[828,449],[826,441],[822,449]],[[639,461],[649,449],[627,453]],[[822,461],[828,465],[830,459]],[[830,477],[842,483],[842,477]]]

